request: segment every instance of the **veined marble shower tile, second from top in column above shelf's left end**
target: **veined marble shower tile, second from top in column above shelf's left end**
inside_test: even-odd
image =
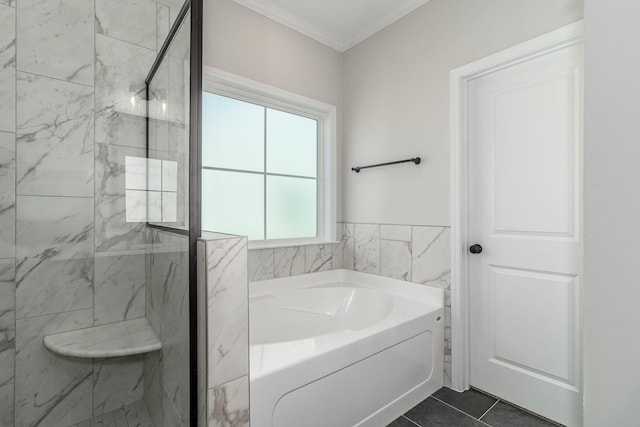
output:
[[[17,75],[17,192],[93,196],[93,88]]]

